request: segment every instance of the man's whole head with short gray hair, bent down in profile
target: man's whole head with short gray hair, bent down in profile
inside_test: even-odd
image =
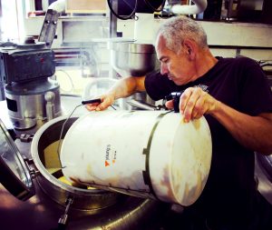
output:
[[[160,73],[176,85],[195,80],[200,74],[199,60],[209,54],[205,31],[185,16],[172,17],[160,25],[155,46]]]

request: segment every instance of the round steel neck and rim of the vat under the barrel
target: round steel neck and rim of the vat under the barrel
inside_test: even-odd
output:
[[[60,205],[66,205],[68,197],[73,197],[73,208],[80,210],[88,210],[96,212],[104,207],[113,205],[117,201],[118,195],[115,193],[105,192],[99,189],[86,189],[67,185],[58,178],[62,175],[61,168],[58,172],[53,174],[48,171],[46,163],[45,149],[60,140],[61,130],[63,128],[63,136],[66,134],[69,127],[77,119],[70,118],[63,127],[63,122],[66,117],[63,116],[55,118],[43,125],[34,135],[31,146],[31,153],[34,160],[34,165],[42,176],[37,176],[37,182],[47,195]],[[55,157],[51,156],[50,165],[59,165],[58,144],[52,148]],[[55,161],[53,163],[52,161]]]

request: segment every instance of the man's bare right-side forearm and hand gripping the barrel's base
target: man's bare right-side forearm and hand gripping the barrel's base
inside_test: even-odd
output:
[[[180,113],[185,122],[212,115],[241,145],[264,155],[272,154],[272,113],[257,116],[240,113],[200,88],[188,88],[180,96]]]

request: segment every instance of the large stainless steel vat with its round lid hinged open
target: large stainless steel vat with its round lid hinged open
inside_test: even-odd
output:
[[[39,129],[36,133],[36,142],[32,144],[33,161],[21,155],[5,125],[0,120],[1,184],[12,195],[25,202],[32,199],[31,197],[39,193],[40,190],[43,191],[43,193],[38,194],[40,202],[32,215],[36,218],[41,215],[41,210],[47,211],[43,214],[44,223],[39,223],[39,229],[53,229],[57,225],[58,217],[60,217],[59,227],[67,227],[67,229],[155,229],[153,227],[158,222],[153,223],[150,220],[165,215],[170,205],[110,193],[100,189],[68,185],[61,180],[60,168],[52,171],[52,168],[50,168],[52,165],[56,167],[60,165],[58,157],[52,157],[53,155],[57,156],[56,149],[50,150],[53,151],[53,155],[49,157],[48,147],[52,149],[51,146],[59,140],[65,119],[66,117],[55,118]],[[77,117],[69,118],[64,126],[63,135],[76,119]],[[44,195],[53,200],[54,205]],[[7,200],[10,200],[10,197]],[[46,204],[51,204],[51,206],[45,205],[44,200],[47,200]],[[34,204],[35,201],[32,199],[30,205],[33,206]],[[60,215],[60,212],[57,211],[59,208],[56,208],[56,204],[65,207],[65,210],[62,211],[63,215]],[[20,204],[18,208],[22,205]],[[51,217],[48,213],[51,214]],[[52,223],[52,215],[54,215],[54,223]],[[67,222],[68,215],[69,224]],[[80,216],[80,220],[73,220],[73,216]],[[49,223],[48,219],[50,219]],[[1,223],[2,226],[4,224],[7,227],[5,225],[6,220],[4,223],[1,221]],[[17,226],[15,223],[12,225]],[[8,227],[11,227],[11,225],[8,225]],[[28,226],[28,229],[37,229],[37,224]]]

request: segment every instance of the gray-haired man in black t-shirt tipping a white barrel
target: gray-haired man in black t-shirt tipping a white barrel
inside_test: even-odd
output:
[[[102,95],[100,105],[87,108],[103,110],[135,92],[159,100],[184,90],[180,114],[185,122],[205,115],[213,149],[207,185],[185,209],[189,229],[272,229],[272,207],[254,179],[254,151],[272,153],[272,94],[266,75],[249,58],[211,55],[203,28],[185,16],[160,26],[155,47],[160,73],[123,78]],[[172,108],[172,101],[167,106]]]

